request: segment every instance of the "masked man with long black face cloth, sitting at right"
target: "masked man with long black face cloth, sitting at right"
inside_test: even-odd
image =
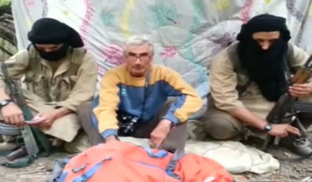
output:
[[[216,140],[241,138],[245,129],[250,128],[257,138],[264,139],[266,134],[277,136],[284,138],[280,144],[297,153],[311,151],[305,145],[293,146],[293,136],[300,135],[295,126],[266,121],[275,102],[286,91],[285,75],[294,74],[288,70],[304,65],[308,58],[302,49],[288,43],[290,38],[282,17],[258,15],[243,24],[237,37],[239,43],[221,51],[211,63],[211,96],[207,113],[195,130],[198,139],[205,134]],[[294,97],[307,97],[312,83],[295,84],[289,92]],[[300,117],[309,126],[311,117],[303,113]]]

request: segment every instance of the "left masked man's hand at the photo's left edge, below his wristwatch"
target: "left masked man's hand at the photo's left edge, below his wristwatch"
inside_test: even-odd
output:
[[[21,126],[24,124],[23,111],[14,102],[10,102],[8,105],[1,109],[4,122],[12,125]]]

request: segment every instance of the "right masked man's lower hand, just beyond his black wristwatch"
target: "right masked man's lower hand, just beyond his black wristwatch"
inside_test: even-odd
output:
[[[300,131],[289,124],[272,124],[272,129],[268,132],[269,135],[285,138],[288,135],[300,136]]]

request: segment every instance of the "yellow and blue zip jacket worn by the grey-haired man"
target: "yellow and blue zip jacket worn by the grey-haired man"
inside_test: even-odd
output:
[[[130,76],[125,65],[111,69],[101,83],[99,105],[94,108],[98,130],[106,138],[117,135],[116,110],[150,122],[167,97],[177,97],[163,119],[173,124],[186,121],[202,106],[197,92],[177,72],[153,65],[146,77]]]

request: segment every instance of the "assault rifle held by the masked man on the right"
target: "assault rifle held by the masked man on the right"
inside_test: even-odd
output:
[[[312,55],[306,60],[306,63],[295,73],[295,75],[289,79],[290,84],[295,83],[302,84],[306,83],[309,78],[312,76]],[[297,114],[300,112],[311,113],[312,112],[312,103],[297,101],[296,97],[293,97],[290,92],[287,90],[284,94],[279,97],[279,100],[272,108],[266,120],[272,124],[282,124],[296,122],[300,133],[306,136],[306,130],[302,126],[300,119],[297,117]],[[288,119],[287,119],[288,118]],[[272,137],[268,136],[263,144],[262,149],[266,150],[268,144],[272,142]]]

